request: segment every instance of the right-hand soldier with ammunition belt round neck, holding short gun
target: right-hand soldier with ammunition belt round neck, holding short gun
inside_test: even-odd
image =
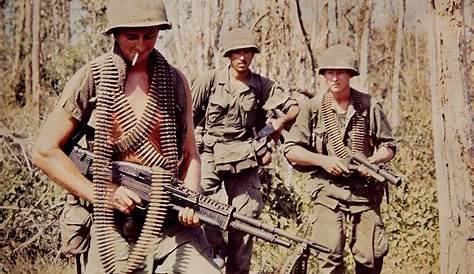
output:
[[[353,152],[371,163],[385,163],[396,144],[381,104],[350,86],[359,75],[351,49],[329,47],[321,56],[319,74],[328,90],[301,107],[285,144],[286,158],[311,172],[307,182],[313,197],[312,240],[329,247],[320,253],[321,273],[344,273],[345,224],[356,273],[380,273],[387,238],[380,215],[384,186],[368,178],[366,169],[349,174],[344,158]]]

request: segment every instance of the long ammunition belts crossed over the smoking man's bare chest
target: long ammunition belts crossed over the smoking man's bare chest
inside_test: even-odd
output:
[[[145,111],[140,119],[133,115],[131,105],[123,94],[126,76],[123,59],[111,53],[91,64],[94,81],[98,84],[93,161],[94,223],[99,256],[106,273],[131,273],[143,262],[155,242],[153,239],[161,235],[170,199],[164,187],[176,176],[178,152],[173,78],[168,63],[158,51],[155,50],[151,56],[152,80]],[[113,113],[124,129],[123,136],[116,144],[110,142]],[[158,122],[162,154],[148,139]],[[144,165],[152,167],[151,201],[145,223],[122,270],[116,269],[113,241],[120,232],[114,225],[114,209],[108,203],[112,193],[109,184],[112,182],[114,150],[119,153],[134,151]]]

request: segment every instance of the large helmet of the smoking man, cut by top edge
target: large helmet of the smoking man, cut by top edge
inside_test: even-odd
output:
[[[107,23],[102,32],[104,35],[122,27],[171,28],[161,0],[110,0],[107,3]]]

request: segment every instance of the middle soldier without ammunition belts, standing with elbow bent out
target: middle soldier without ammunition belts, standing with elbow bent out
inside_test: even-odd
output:
[[[255,142],[256,133],[265,124],[266,112],[286,113],[268,121],[281,132],[291,125],[299,108],[281,86],[250,70],[254,55],[260,52],[252,32],[234,28],[223,35],[222,45],[229,65],[205,73],[191,88],[194,123],[203,128],[201,184],[205,195],[257,218],[263,207],[258,166],[266,144]],[[205,233],[215,255],[227,253],[227,273],[249,272],[250,235],[230,230],[226,246],[220,231],[205,227]]]

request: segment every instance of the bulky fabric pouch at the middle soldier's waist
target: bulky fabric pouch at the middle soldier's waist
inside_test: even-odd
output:
[[[216,143],[214,145],[216,171],[237,174],[258,166],[255,149],[251,141]]]

